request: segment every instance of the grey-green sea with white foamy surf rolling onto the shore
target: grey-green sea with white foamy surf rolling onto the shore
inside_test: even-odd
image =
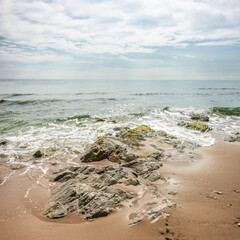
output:
[[[240,107],[240,81],[0,80],[0,140],[9,142],[0,154],[19,163],[54,149],[56,158],[71,161],[115,127],[142,124],[210,146],[240,131],[240,117],[214,114],[213,107]],[[208,114],[213,130],[177,125],[193,113]]]

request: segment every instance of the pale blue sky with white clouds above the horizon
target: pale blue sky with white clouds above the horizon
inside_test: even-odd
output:
[[[0,79],[240,80],[240,0],[0,0]]]

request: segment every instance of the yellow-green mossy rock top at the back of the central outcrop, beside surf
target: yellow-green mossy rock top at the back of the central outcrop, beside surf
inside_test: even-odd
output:
[[[149,126],[141,125],[133,129],[126,129],[125,131],[122,131],[121,138],[126,140],[143,140],[144,136],[153,132],[154,131]]]

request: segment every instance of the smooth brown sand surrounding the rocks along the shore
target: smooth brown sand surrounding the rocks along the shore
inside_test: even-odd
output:
[[[167,209],[170,217],[154,224],[144,219],[129,226],[127,207],[93,222],[83,221],[76,214],[48,220],[41,215],[49,197],[45,180],[33,186],[29,175],[13,175],[0,186],[0,238],[240,239],[240,145],[218,142],[198,151],[201,158],[193,159],[191,164],[164,162],[160,172],[168,183],[163,188],[176,192],[167,197],[182,207]],[[1,166],[2,179],[6,171],[9,170]],[[26,189],[31,189],[27,196]]]

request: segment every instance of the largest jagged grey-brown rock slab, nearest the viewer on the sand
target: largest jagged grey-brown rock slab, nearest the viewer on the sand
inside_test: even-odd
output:
[[[64,217],[68,212],[82,213],[86,219],[108,215],[118,204],[134,197],[111,185],[125,181],[139,184],[128,178],[128,171],[119,166],[69,167],[53,175],[52,180],[62,182],[50,193],[50,200],[43,212],[48,218]],[[129,180],[131,179],[131,180]]]

